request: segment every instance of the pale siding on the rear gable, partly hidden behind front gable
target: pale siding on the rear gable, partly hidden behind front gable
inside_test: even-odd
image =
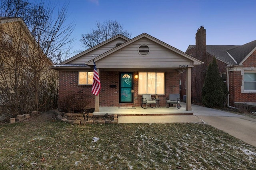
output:
[[[87,61],[92,59],[92,56],[94,56],[94,58],[98,57],[99,55],[102,55],[103,53],[106,53],[107,51],[115,48],[117,43],[125,43],[125,42],[126,40],[122,38],[115,39],[114,41],[111,41],[110,43],[105,44],[102,47],[99,47],[98,49],[90,51],[89,53],[86,53],[85,55],[82,55],[77,59],[74,59],[66,64],[85,64],[87,63]]]

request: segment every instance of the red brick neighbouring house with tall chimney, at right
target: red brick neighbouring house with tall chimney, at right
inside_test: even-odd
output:
[[[200,27],[196,45],[189,45],[186,53],[204,62],[192,68],[192,101],[201,102],[206,70],[215,57],[220,76],[228,86],[228,106],[256,102],[256,40],[244,45],[206,45],[206,30]],[[184,73],[180,79],[181,95],[185,95]]]

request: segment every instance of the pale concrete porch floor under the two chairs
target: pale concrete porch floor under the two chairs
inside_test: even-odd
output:
[[[135,109],[118,109],[118,107],[100,107],[99,112],[94,112],[94,115],[114,115],[118,116],[134,116],[134,115],[193,115],[194,111],[186,111],[186,103],[180,102],[181,107],[177,109],[176,107],[166,108],[165,106],[152,108],[149,107],[147,109],[143,109],[138,106]]]

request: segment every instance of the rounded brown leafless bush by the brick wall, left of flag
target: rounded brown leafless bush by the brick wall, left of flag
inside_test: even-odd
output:
[[[86,106],[90,103],[88,95],[80,92],[68,95],[66,98],[59,100],[59,108],[64,112],[72,113],[74,110],[78,110],[79,113],[82,113]]]

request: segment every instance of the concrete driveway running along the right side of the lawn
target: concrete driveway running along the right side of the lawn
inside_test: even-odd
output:
[[[256,119],[196,105],[192,109],[205,123],[256,147]]]

